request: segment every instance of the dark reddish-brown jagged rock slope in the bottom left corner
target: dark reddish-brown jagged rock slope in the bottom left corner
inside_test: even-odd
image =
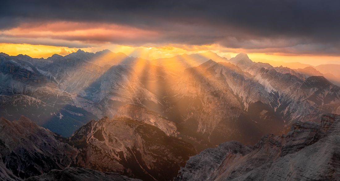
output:
[[[77,150],[57,140],[58,137],[26,117],[13,122],[1,118],[1,175],[8,175],[9,180],[24,179],[70,166]]]

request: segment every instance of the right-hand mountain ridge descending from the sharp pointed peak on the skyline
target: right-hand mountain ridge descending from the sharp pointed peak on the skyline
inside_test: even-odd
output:
[[[268,92],[274,94],[271,107],[287,125],[309,114],[316,115],[313,112],[318,107],[340,103],[340,88],[323,76],[310,76],[322,75],[312,67],[300,70],[282,66],[274,68],[269,64],[252,62],[245,54],[239,54],[230,61],[240,65],[243,71],[252,74]],[[315,120],[320,120],[323,113],[327,112],[319,112]]]

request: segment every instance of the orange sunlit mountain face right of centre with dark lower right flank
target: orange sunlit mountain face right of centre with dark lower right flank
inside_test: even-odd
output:
[[[249,73],[230,63],[209,60],[188,68],[172,91],[167,100],[172,105],[168,117],[182,120],[179,123],[186,130],[202,134],[212,144],[235,139],[254,143],[264,132],[277,133],[283,127],[283,121],[268,106],[272,95]]]

